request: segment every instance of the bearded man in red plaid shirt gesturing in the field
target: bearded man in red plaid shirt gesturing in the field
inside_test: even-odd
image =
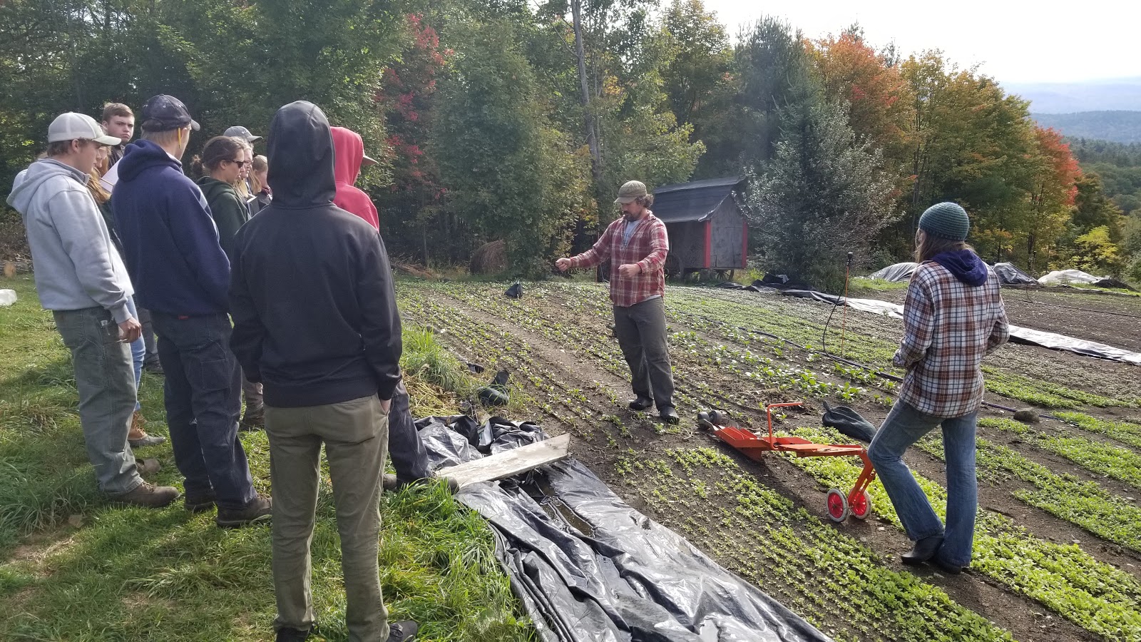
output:
[[[630,367],[634,398],[631,410],[657,403],[662,419],[678,423],[673,408],[673,374],[665,342],[665,255],[670,239],[649,206],[654,195],[646,185],[631,180],[618,190],[614,202],[622,218],[612,223],[594,247],[572,258],[560,258],[560,271],[593,267],[610,262],[610,300],[614,302],[614,334]]]

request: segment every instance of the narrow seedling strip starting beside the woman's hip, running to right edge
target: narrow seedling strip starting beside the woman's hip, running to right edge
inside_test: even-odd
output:
[[[1141,455],[1128,448],[1037,431],[1012,419],[986,418],[980,419],[979,425],[1017,434],[1037,448],[1065,457],[1092,473],[1141,489]]]

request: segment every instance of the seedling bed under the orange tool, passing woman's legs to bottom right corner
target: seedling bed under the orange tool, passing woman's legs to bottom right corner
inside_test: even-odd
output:
[[[830,428],[796,428],[793,434],[822,443],[843,439]],[[852,458],[791,458],[827,488],[851,488],[860,465]],[[931,505],[946,514],[946,490],[914,473]],[[876,480],[868,487],[873,511],[900,530],[887,491]],[[1041,602],[1074,624],[1107,640],[1141,640],[1141,584],[1132,575],[1094,559],[1076,544],[1036,537],[1009,517],[980,509],[974,529],[971,569]]]

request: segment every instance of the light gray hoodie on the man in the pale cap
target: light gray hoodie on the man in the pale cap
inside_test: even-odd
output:
[[[122,323],[135,294],[80,170],[52,159],[16,177],[8,204],[24,217],[44,310],[105,307]]]

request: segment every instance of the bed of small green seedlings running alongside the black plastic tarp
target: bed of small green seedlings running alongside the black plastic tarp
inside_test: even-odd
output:
[[[938,586],[884,567],[858,539],[796,508],[723,454],[678,448],[666,456],[628,463],[663,521],[717,543],[723,564],[834,640],[1013,640]]]

